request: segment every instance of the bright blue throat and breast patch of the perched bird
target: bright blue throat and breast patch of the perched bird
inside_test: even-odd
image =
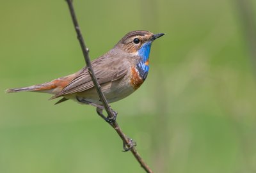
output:
[[[144,43],[141,48],[138,50],[138,54],[141,58],[140,63],[136,64],[136,68],[139,71],[140,77],[145,80],[148,75],[149,66],[145,64],[148,61],[150,48],[152,41]]]

